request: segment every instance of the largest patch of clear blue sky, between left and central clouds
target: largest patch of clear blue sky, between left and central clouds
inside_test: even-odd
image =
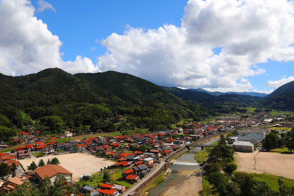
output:
[[[106,51],[95,40],[115,32],[123,34],[126,24],[132,27],[158,29],[164,23],[181,26],[186,0],[164,1],[47,1],[56,12],[46,9],[36,13],[48,29],[64,42],[64,61],[77,55],[96,61]],[[36,8],[39,6],[32,1]],[[91,51],[96,47],[95,51]]]

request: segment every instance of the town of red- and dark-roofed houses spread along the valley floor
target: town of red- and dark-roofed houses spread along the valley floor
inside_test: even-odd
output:
[[[201,139],[215,133],[240,129],[237,130],[236,136],[229,137],[230,140],[227,141],[227,143],[232,145],[235,150],[239,150],[241,152],[253,152],[254,144],[261,143],[265,135],[270,132],[270,129],[255,128],[255,126],[268,124],[277,117],[283,119],[281,116],[268,116],[263,113],[256,116],[247,116],[248,118],[245,119],[246,121],[241,119],[240,116],[220,117],[216,119],[216,122],[184,123],[182,127],[176,127],[170,131],[151,131],[149,133],[132,133],[131,135],[115,135],[113,137],[85,137],[83,140],[70,140],[74,134],[70,131],[66,131],[64,135],[60,136],[60,138],[69,138],[69,140],[64,143],[55,141],[57,138],[49,138],[49,141],[47,137],[37,137],[37,134],[39,133],[38,131],[34,131],[36,135],[32,135],[33,133],[31,131],[21,131],[19,134],[21,134],[22,137],[16,138],[12,142],[16,141],[19,144],[24,145],[14,148],[14,152],[16,153],[15,155],[0,152],[0,162],[4,162],[9,166],[11,166],[12,163],[15,163],[17,165],[17,173],[19,173],[21,171],[21,165],[17,160],[31,158],[31,152],[33,151],[49,155],[56,153],[56,151],[67,153],[73,149],[81,149],[92,155],[108,156],[109,158],[116,160],[117,163],[113,164],[113,167],[129,168],[128,170],[122,172],[122,177],[129,182],[136,183],[139,179],[142,179],[149,172],[151,172],[152,169],[156,168],[164,156],[197,139]],[[276,127],[293,127],[293,123],[294,122],[279,123],[276,124]],[[1,145],[3,147],[5,144]],[[130,150],[134,147],[140,147],[142,145],[149,146],[151,149],[142,151]],[[27,179],[27,177],[28,175],[24,178]],[[21,182],[19,180],[15,180],[15,178],[16,177],[12,178],[12,171],[10,171],[8,179],[18,183]],[[22,178],[23,176],[18,179]],[[106,192],[111,192],[112,194],[110,195],[116,195],[122,191],[121,186],[117,189],[114,188],[116,187],[115,184],[103,183],[103,186],[101,185],[99,190],[96,190],[95,187],[87,186],[86,189],[84,187],[84,192],[87,192],[88,189],[93,191],[95,188],[97,195],[101,195]],[[3,184],[0,186],[0,191],[1,187],[3,188]]]

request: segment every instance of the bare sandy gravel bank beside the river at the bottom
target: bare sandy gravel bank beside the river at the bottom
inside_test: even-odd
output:
[[[200,195],[202,190],[202,181],[198,174],[191,175],[183,184],[178,187],[170,187],[165,193],[164,196],[182,196],[182,195]]]

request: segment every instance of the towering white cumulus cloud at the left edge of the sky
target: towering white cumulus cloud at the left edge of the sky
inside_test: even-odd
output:
[[[77,56],[64,62],[59,48],[62,42],[53,35],[35,8],[27,0],[3,0],[0,3],[0,72],[6,75],[36,73],[59,67],[71,73],[96,72],[91,59]]]

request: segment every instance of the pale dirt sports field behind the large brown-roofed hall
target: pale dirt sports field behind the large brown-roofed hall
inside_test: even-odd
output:
[[[51,160],[54,157],[59,159],[59,162],[61,163],[60,165],[62,167],[73,173],[72,178],[74,181],[76,181],[82,175],[88,174],[90,172],[98,172],[100,168],[107,167],[108,165],[112,165],[114,163],[113,161],[104,158],[98,158],[86,153],[52,155],[35,159],[19,160],[19,162],[22,163],[25,169],[27,169],[26,166],[30,165],[32,161],[35,161],[35,163],[38,165],[40,159],[43,159],[46,163],[48,159]]]

